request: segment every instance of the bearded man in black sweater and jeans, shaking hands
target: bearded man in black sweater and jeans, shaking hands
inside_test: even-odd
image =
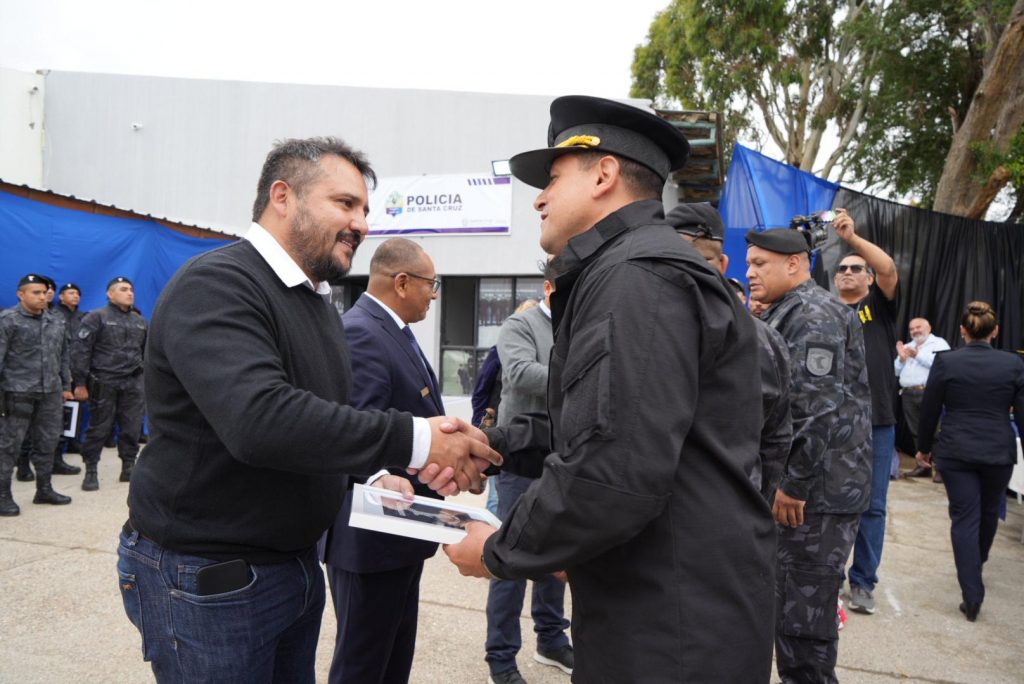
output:
[[[246,239],[189,260],[157,302],[151,440],[118,574],[158,681],[313,682],[325,602],[314,545],[345,474],[410,467],[453,494],[479,489],[501,461],[458,419],[347,405],[328,281],[367,233],[375,179],[340,140],[280,143]]]

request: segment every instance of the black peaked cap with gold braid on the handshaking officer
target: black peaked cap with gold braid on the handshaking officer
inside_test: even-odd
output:
[[[509,160],[512,175],[546,187],[551,165],[562,155],[596,149],[643,164],[663,181],[686,163],[690,143],[660,117],[603,97],[565,95],[551,102],[548,146]]]

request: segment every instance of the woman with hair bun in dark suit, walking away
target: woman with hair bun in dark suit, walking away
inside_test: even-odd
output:
[[[1024,359],[992,349],[998,333],[995,312],[971,302],[961,318],[967,346],[935,356],[921,405],[918,464],[932,465],[932,435],[945,408],[935,465],[949,497],[950,536],[961,612],[972,623],[985,598],[981,566],[998,526],[999,503],[1014,464],[1017,440],[1010,426],[1013,407],[1024,434]]]

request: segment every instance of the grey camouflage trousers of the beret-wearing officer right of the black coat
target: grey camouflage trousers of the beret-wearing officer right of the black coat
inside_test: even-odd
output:
[[[859,521],[805,513],[803,525],[778,528],[775,664],[785,684],[839,681],[839,593]]]

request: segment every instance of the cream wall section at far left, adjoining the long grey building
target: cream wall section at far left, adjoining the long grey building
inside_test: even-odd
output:
[[[0,68],[0,178],[15,185],[43,182],[45,79]]]

